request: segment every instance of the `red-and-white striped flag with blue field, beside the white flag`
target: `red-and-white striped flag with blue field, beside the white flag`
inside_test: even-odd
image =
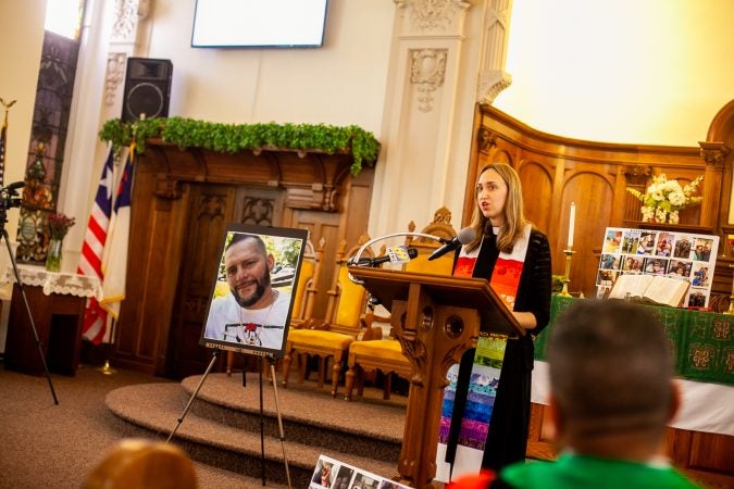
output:
[[[112,187],[113,187],[113,150],[102,168],[102,178],[97,187],[97,197],[89,214],[89,224],[84,237],[82,256],[76,273],[99,278],[103,283],[102,254],[107,242],[107,233],[110,227],[112,213]],[[87,299],[87,308],[84,312],[83,335],[95,344],[99,344],[104,338],[107,330],[107,311],[104,311],[96,298]]]

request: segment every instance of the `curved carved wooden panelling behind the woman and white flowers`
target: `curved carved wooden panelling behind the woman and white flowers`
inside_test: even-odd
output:
[[[650,176],[660,173],[679,179],[682,185],[705,175],[704,196],[718,197],[725,181],[723,165],[706,160],[698,147],[614,145],[562,138],[537,131],[488,105],[477,106],[475,121],[463,222],[468,223],[474,211],[473,187],[478,171],[493,162],[511,164],[523,184],[525,215],[548,236],[553,273],[562,275],[569,213],[574,202],[575,253],[570,291],[583,292],[585,297],[596,292],[605,229],[647,226],[640,222],[640,202],[626,192],[626,187],[644,191]],[[700,206],[682,211],[681,223],[675,227],[721,235],[718,202],[718,199],[705,198]],[[722,242],[723,239],[722,236]],[[720,262],[717,271],[721,276],[727,263]],[[723,280],[714,279],[714,291],[731,291],[731,271],[725,272]]]

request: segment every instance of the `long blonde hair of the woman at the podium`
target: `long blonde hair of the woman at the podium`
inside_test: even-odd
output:
[[[507,163],[492,163],[483,167],[477,176],[482,176],[487,170],[494,170],[500,178],[507,184],[507,200],[505,201],[505,226],[497,236],[497,248],[499,251],[509,253],[512,251],[514,243],[523,234],[525,224],[530,224],[525,220],[522,200],[522,184],[520,176],[514,168]],[[478,192],[476,186],[474,187],[474,215],[470,226],[476,233],[476,237],[466,246],[468,251],[476,249],[482,242],[482,237],[492,231],[492,223],[482,214],[478,203]]]

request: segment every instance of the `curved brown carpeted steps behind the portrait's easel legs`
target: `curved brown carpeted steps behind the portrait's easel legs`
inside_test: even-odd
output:
[[[347,402],[297,384],[275,390],[263,379],[261,417],[259,380],[248,374],[247,387],[242,387],[241,375],[210,374],[203,383],[201,376],[194,376],[182,384],[123,387],[110,392],[105,402],[126,422],[124,429],[129,436],[152,432],[166,439],[176,429],[172,441],[194,460],[248,477],[260,477],[264,464],[268,480],[285,484],[284,451],[293,487],[308,486],[322,453],[386,477],[396,474],[405,398],[398,402],[369,398]],[[276,393],[283,441],[277,429]]]

